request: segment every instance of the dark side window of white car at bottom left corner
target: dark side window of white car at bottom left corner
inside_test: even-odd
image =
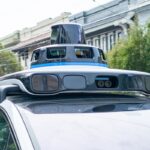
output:
[[[4,114],[0,111],[0,150],[17,150],[16,142]]]

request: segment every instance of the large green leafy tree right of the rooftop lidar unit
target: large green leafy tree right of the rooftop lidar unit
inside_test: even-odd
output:
[[[118,41],[107,58],[111,68],[150,72],[150,24],[132,26],[128,37]]]

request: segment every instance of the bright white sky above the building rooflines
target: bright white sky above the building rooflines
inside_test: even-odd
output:
[[[111,0],[2,0],[0,2],[0,37],[35,26],[62,12],[86,11]]]

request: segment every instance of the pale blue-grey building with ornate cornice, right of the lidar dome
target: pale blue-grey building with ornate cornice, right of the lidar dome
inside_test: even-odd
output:
[[[84,26],[87,44],[108,52],[138,18],[144,25],[150,20],[150,0],[115,0],[70,17]]]

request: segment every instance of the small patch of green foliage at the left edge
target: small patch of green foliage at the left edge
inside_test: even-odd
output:
[[[13,52],[8,50],[0,51],[0,76],[20,71],[21,65]]]

